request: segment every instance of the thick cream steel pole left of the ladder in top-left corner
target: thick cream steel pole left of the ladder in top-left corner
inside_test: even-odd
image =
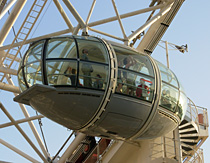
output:
[[[7,18],[4,26],[0,31],[0,46],[3,45],[6,37],[8,36],[13,24],[15,23],[16,19],[18,18],[20,12],[22,11],[25,3],[27,0],[19,0],[15,4],[14,8],[11,11],[10,16]]]

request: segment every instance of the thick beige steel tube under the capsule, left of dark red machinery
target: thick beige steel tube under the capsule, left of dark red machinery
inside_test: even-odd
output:
[[[70,146],[66,149],[65,153],[61,156],[59,163],[65,163],[66,159],[69,158],[74,150],[78,147],[82,140],[86,137],[85,134],[79,133],[76,138],[72,141]]]

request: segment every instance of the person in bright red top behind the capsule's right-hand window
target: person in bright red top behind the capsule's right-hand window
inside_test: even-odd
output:
[[[138,88],[136,89],[136,96],[146,100],[146,98],[149,96],[149,87],[145,84],[145,79],[140,79],[140,85],[138,85]]]

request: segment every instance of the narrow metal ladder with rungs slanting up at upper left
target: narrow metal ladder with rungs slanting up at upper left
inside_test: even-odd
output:
[[[20,50],[23,47],[24,42],[28,38],[31,30],[33,29],[36,21],[38,20],[46,3],[47,3],[47,0],[35,0],[34,1],[25,20],[23,21],[19,31],[17,32],[17,34],[11,44],[11,45],[13,45],[15,42],[21,42],[21,45],[19,47],[9,48],[7,50],[5,56],[0,61],[0,65],[2,65],[4,63],[6,68],[12,68],[15,58],[20,53]],[[14,57],[13,57],[13,59],[11,59],[11,58],[8,58],[7,55],[13,55]],[[5,75],[2,76],[1,82],[3,81],[4,78],[5,78]]]

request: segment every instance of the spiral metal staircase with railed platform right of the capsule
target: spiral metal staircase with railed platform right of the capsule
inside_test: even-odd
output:
[[[179,125],[179,134],[183,162],[189,162],[208,137],[207,110],[196,106],[189,99],[187,113]]]

